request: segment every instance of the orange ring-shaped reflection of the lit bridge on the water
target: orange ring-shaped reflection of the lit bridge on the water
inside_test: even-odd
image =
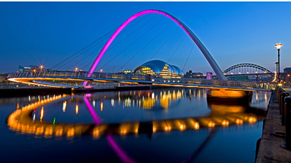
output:
[[[192,92],[191,92],[192,91]],[[96,101],[105,101],[111,99],[110,104],[114,106],[116,102],[123,107],[134,106],[145,110],[162,109],[166,111],[170,106],[173,106],[184,96],[196,97],[197,99],[206,98],[206,89],[175,89],[175,90],[159,90],[159,91],[130,91],[117,93],[101,93],[100,96],[95,97],[94,94],[85,95],[58,95],[48,97],[47,99],[39,99],[17,109],[12,113],[8,119],[7,124],[12,131],[17,131],[21,134],[32,134],[36,137],[67,137],[69,139],[78,137],[80,135],[91,135],[94,139],[98,139],[104,135],[139,135],[157,132],[169,133],[171,131],[198,131],[201,128],[218,128],[228,126],[240,126],[244,124],[254,124],[257,121],[264,119],[264,116],[256,115],[254,113],[245,113],[244,111],[249,107],[248,104],[220,104],[209,103],[208,107],[211,109],[209,113],[200,116],[187,116],[184,117],[168,117],[166,119],[148,119],[142,122],[127,121],[127,122],[103,122],[100,120],[102,115],[98,116],[94,111]],[[256,95],[254,95],[256,96]],[[76,98],[77,97],[77,98]],[[82,98],[87,104],[87,109],[94,119],[94,124],[69,124],[69,123],[55,123],[44,121],[44,108],[43,106],[51,103],[61,103],[63,111],[66,110],[67,104],[76,102]],[[257,98],[257,97],[256,97]],[[267,96],[265,95],[265,99]],[[86,100],[88,102],[86,102]],[[267,100],[266,100],[267,101]],[[195,104],[193,104],[195,105]],[[41,110],[35,115],[35,109]],[[100,109],[103,110],[103,102],[100,102]],[[46,109],[47,111],[48,109]],[[76,114],[78,114],[80,106],[76,105]],[[94,113],[92,113],[94,112]],[[95,115],[94,115],[95,114]],[[94,118],[94,116],[96,116]],[[39,118],[35,118],[39,117]],[[98,120],[96,120],[96,118]]]

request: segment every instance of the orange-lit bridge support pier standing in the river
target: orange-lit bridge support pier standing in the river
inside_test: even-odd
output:
[[[207,90],[209,102],[240,102],[249,103],[252,100],[252,91],[245,90]]]

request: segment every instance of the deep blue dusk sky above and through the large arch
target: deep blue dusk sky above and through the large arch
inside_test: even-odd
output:
[[[274,72],[278,57],[274,46],[277,43],[284,45],[280,51],[281,72],[283,68],[291,67],[290,2],[0,2],[0,74],[15,72],[19,65],[44,64],[51,68],[121,26],[137,12],[150,9],[168,12],[185,23],[222,71],[235,64],[249,63]],[[147,21],[149,23],[143,26]],[[168,64],[184,68],[193,41],[185,37],[184,30],[175,32],[177,25],[168,17],[144,15],[127,28],[130,29],[113,41],[112,46],[117,46],[105,53],[96,71],[101,67],[109,73],[121,67],[134,70],[156,52],[152,59],[167,62],[174,54]],[[150,28],[152,30],[136,41]],[[131,32],[134,33],[130,35]],[[125,41],[118,44],[122,39]],[[94,61],[96,55],[98,52],[86,58],[88,61],[84,59],[83,64],[78,61],[71,64],[67,70],[73,70],[75,66],[86,70],[85,66]],[[118,57],[113,59],[116,55]],[[193,47],[184,73],[188,70],[204,74],[213,72],[197,46]]]

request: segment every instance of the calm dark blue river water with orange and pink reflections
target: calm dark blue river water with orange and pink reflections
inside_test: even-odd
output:
[[[0,99],[0,162],[254,162],[271,93],[165,88]]]

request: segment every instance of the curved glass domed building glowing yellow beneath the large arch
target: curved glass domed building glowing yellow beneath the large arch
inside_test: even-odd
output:
[[[181,78],[183,71],[177,66],[167,64],[165,61],[152,60],[145,62],[137,67],[133,74],[135,75],[155,75],[162,78]]]

